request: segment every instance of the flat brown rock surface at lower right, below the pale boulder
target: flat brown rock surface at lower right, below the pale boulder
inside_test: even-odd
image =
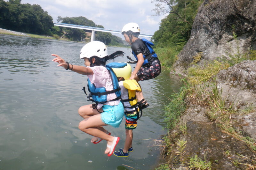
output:
[[[215,123],[187,122],[186,151],[189,155],[197,154],[204,160],[211,161],[212,170],[216,169],[246,169],[242,164],[235,165],[234,162],[252,164],[249,159],[238,156],[238,154],[253,159],[253,152],[242,141],[223,133]]]

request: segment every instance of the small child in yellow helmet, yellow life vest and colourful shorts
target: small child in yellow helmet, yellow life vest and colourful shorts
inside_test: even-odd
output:
[[[129,79],[131,77],[132,68],[130,64],[124,68],[113,68],[118,78],[118,84],[121,88],[121,100],[124,104],[124,117],[125,117],[125,144],[124,148],[120,148],[114,152],[117,157],[128,157],[129,152],[133,151],[132,148],[132,130],[137,127],[137,120],[140,118],[140,110],[138,108],[136,92],[140,92],[140,85],[136,80]],[[142,113],[142,112],[141,112]]]

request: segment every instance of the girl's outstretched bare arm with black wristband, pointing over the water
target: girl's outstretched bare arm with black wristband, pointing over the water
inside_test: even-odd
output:
[[[75,72],[77,72],[79,74],[83,74],[83,75],[92,75],[93,74],[92,69],[86,68],[84,66],[69,64],[69,68],[68,68],[68,63],[63,58],[61,58],[57,54],[52,54],[52,56],[56,57],[56,58],[53,58],[52,61],[59,63],[59,65],[57,65],[58,67],[62,66],[65,69],[72,70],[72,71],[75,71]]]

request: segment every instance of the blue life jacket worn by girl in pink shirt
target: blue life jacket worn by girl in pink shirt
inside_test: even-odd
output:
[[[120,99],[121,97],[121,88],[118,85],[118,79],[116,77],[116,74],[112,70],[112,68],[123,68],[127,65],[127,63],[108,63],[105,67],[110,73],[110,77],[112,79],[112,85],[113,85],[113,90],[106,91],[105,87],[95,87],[94,84],[91,83],[91,81],[88,78],[88,90],[90,92],[89,95],[86,94],[85,92],[85,87],[83,88],[84,93],[87,95],[87,101],[93,101],[95,103],[106,103],[107,101],[115,101]],[[110,93],[115,93],[116,98],[112,100],[107,100],[107,95]],[[92,99],[90,98],[92,97]]]

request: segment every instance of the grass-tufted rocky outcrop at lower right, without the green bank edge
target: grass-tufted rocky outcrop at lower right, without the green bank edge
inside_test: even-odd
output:
[[[217,94],[214,87],[222,102],[210,101]],[[187,96],[188,108],[169,134],[175,139],[166,159],[172,170],[191,168],[195,155],[200,160],[194,160],[194,165],[210,162],[212,170],[256,169],[256,60],[221,70],[215,86],[201,85],[198,89],[200,96],[197,92]],[[182,152],[179,140],[186,141]]]

